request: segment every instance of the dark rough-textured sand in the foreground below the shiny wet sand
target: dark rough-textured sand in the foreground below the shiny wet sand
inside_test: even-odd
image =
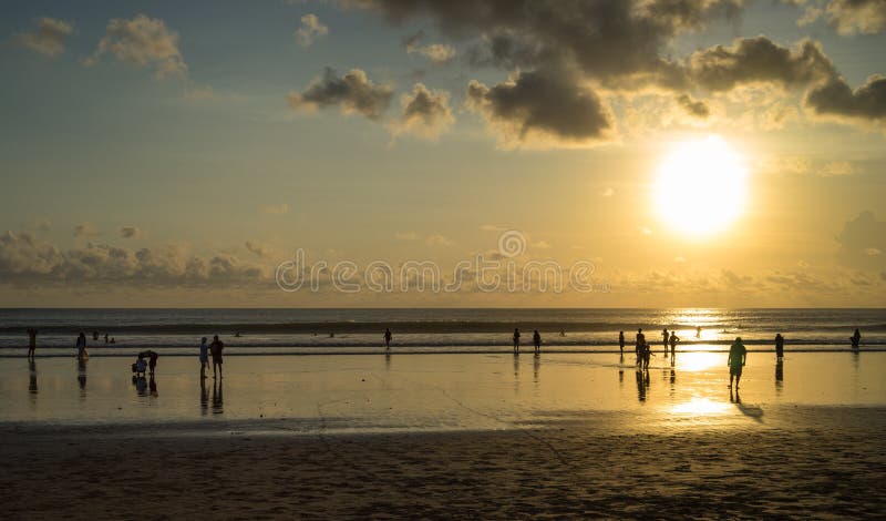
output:
[[[794,407],[779,416],[777,427],[655,432],[610,429],[611,415],[595,412],[502,431],[336,436],[268,435],[279,427],[272,421],[212,430],[6,423],[2,518],[886,513],[886,409]]]

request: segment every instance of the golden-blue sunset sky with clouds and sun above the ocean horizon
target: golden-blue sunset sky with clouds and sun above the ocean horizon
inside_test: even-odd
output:
[[[882,0],[6,1],[0,306],[886,306],[883,49]]]

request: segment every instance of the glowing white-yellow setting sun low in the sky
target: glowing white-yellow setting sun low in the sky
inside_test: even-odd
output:
[[[748,173],[722,137],[687,141],[659,166],[655,197],[660,218],[670,227],[707,237],[728,228],[744,211]]]

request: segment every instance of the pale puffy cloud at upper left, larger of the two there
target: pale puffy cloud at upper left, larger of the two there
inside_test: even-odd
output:
[[[136,14],[128,20],[115,18],[107,22],[99,48],[86,63],[96,63],[105,53],[125,63],[151,67],[157,78],[187,73],[187,64],[178,50],[178,34],[166,28],[163,20],[144,14]]]

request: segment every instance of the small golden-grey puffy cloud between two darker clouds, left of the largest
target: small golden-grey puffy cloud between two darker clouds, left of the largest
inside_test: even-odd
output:
[[[423,83],[415,83],[411,94],[400,98],[400,104],[403,115],[391,125],[394,134],[408,132],[435,140],[455,121],[449,92],[431,91]]]

